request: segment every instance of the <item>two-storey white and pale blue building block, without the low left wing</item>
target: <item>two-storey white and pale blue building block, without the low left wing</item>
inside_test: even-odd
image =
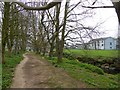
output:
[[[89,49],[113,50],[117,49],[117,39],[112,37],[97,38],[89,41]]]

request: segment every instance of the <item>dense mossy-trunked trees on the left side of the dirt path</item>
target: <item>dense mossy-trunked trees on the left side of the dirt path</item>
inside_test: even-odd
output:
[[[2,15],[2,60],[4,62],[4,54],[7,48],[9,55],[11,52],[18,53],[20,50],[25,51],[26,32],[28,26],[28,17],[18,10],[18,6],[10,2],[3,4]]]

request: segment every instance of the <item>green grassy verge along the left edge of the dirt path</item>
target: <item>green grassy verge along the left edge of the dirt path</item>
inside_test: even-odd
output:
[[[12,54],[9,56],[8,53],[6,53],[6,63],[2,65],[2,88],[10,88],[15,67],[23,59],[22,54],[23,53],[17,55]]]

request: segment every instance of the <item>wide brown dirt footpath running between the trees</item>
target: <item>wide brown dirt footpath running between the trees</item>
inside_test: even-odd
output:
[[[48,61],[25,54],[16,67],[11,88],[85,88],[85,85]]]

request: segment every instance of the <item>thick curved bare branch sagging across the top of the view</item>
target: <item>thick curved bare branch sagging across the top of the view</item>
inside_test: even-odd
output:
[[[62,0],[53,0],[52,2],[50,2],[49,4],[45,5],[45,6],[41,6],[41,7],[31,7],[31,6],[27,6],[25,5],[24,3],[22,2],[13,2],[13,3],[17,3],[18,5],[20,5],[21,7],[23,7],[24,9],[26,10],[47,10],[47,9],[50,9],[52,7],[54,7],[55,5],[61,3]]]

